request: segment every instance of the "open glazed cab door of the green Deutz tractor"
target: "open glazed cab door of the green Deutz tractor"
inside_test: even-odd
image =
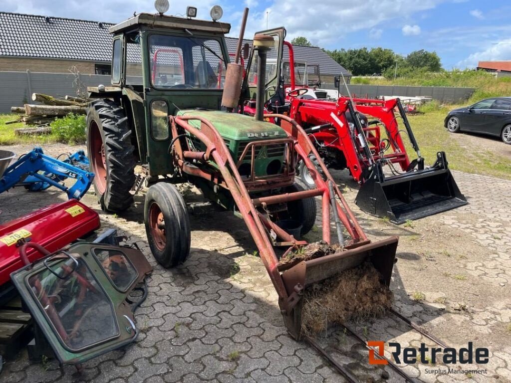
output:
[[[270,29],[267,31],[256,32],[256,35],[263,34],[273,37],[273,47],[268,51],[266,59],[266,81],[265,81],[265,100],[275,97],[278,92],[283,91],[281,81],[282,56],[284,39],[286,38],[286,29],[284,27]],[[244,87],[249,90],[249,98],[255,99],[257,88],[257,66],[258,55],[252,49],[245,75]],[[283,93],[282,93],[283,94]]]

